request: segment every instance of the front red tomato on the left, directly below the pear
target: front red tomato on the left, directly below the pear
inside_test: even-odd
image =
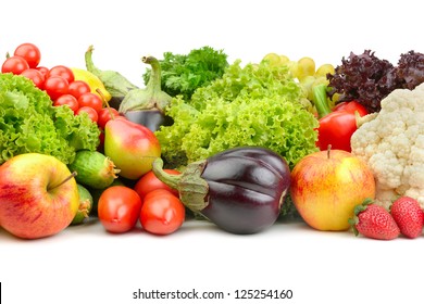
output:
[[[141,199],[126,186],[112,186],[105,189],[98,203],[98,217],[104,229],[122,233],[130,230],[138,220]]]

